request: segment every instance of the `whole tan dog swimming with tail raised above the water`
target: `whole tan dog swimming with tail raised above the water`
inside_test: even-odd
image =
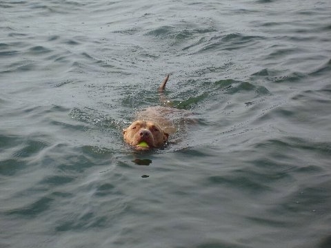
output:
[[[159,87],[161,101],[165,101],[162,92],[168,79],[169,75],[165,77]],[[170,111],[170,107],[157,106],[148,107],[140,112],[137,121],[123,130],[124,141],[137,150],[162,147],[168,141],[169,134],[176,131],[172,123],[165,118],[165,114]]]

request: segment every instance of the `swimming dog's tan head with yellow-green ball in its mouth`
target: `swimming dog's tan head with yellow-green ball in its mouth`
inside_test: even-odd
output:
[[[162,147],[168,140],[168,134],[152,121],[134,121],[123,130],[123,136],[126,143],[138,150]]]

